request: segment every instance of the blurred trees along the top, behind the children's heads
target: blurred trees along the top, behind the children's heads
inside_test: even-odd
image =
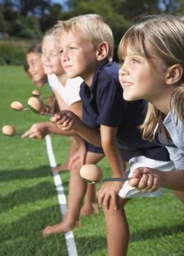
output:
[[[8,37],[40,40],[56,24],[75,15],[98,13],[114,33],[114,59],[124,32],[138,17],[158,13],[183,13],[183,0],[50,0],[0,1],[0,33]]]

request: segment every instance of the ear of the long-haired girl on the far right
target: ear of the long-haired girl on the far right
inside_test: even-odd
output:
[[[174,85],[178,83],[182,76],[183,66],[181,66],[181,64],[174,64],[173,66],[170,66],[169,69],[167,69],[165,78],[167,85]]]

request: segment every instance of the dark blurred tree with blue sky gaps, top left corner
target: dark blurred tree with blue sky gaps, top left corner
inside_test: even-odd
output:
[[[0,0],[0,24],[10,36],[40,38],[62,17],[62,6],[50,0]]]

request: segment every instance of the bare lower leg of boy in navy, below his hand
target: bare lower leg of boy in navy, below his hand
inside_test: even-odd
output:
[[[118,209],[114,210],[114,205],[110,203],[109,210],[104,211],[107,233],[108,256],[127,255],[129,242],[129,227],[123,206],[128,199],[118,197]],[[114,239],[116,238],[116,239]]]

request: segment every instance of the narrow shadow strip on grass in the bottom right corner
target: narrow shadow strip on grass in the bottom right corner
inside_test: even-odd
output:
[[[173,225],[169,227],[155,227],[153,229],[137,230],[131,235],[131,241],[142,241],[153,238],[158,238],[160,236],[169,236],[172,234],[177,234],[184,232],[184,225]]]

